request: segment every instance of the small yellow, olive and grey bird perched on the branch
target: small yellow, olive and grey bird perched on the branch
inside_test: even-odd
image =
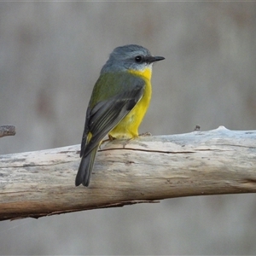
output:
[[[113,49],[102,67],[86,111],[76,186],[81,183],[89,186],[96,152],[103,137],[138,137],[138,127],[151,99],[152,65],[164,59],[151,55],[148,49],[137,44]]]

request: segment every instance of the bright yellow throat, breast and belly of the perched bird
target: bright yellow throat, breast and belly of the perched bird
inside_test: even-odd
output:
[[[148,110],[148,106],[151,99],[151,68],[147,68],[143,72],[131,71],[145,80],[144,94],[137,105],[132,108],[124,119],[122,119],[118,125],[116,125],[112,131],[109,132],[113,138],[119,139],[131,139],[138,137],[138,127],[143,121],[143,117]]]

